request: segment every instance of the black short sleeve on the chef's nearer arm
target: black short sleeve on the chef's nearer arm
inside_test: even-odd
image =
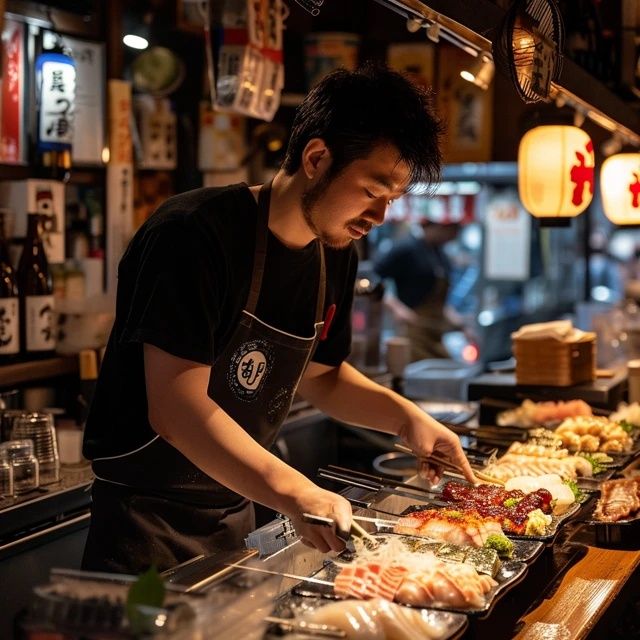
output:
[[[118,279],[118,311],[125,318],[121,342],[148,343],[213,364],[217,287],[201,240],[186,220],[163,221],[139,233]]]

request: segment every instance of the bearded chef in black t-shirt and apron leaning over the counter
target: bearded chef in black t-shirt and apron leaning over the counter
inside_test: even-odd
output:
[[[296,391],[473,480],[454,434],[344,362],[353,240],[412,182],[437,178],[439,133],[404,77],[338,71],[300,105],[272,185],[185,193],[140,228],[86,427],[97,479],[85,568],[166,569],[240,547],[250,501],[287,515],[305,544],[342,549],[347,500],[268,451]]]

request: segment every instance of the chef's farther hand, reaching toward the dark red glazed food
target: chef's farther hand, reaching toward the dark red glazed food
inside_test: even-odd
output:
[[[436,454],[447,458],[461,468],[469,482],[477,484],[478,479],[464,455],[458,436],[421,409],[416,407],[415,411],[410,412],[408,421],[398,435],[418,456],[428,458],[431,454]],[[420,460],[419,473],[432,484],[436,484],[442,475],[442,468],[429,460]]]

